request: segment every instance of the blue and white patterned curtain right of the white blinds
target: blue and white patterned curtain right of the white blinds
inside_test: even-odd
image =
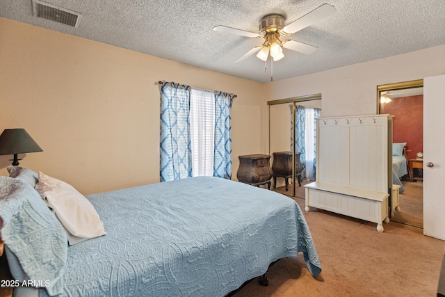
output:
[[[232,178],[232,118],[234,94],[215,91],[215,154],[213,176]]]

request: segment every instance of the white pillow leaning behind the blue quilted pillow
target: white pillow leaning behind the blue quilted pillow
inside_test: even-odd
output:
[[[35,189],[53,209],[68,234],[74,236],[68,236],[70,244],[106,234],[95,207],[70,184],[39,172]]]

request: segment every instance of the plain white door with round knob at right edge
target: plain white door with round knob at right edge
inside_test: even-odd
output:
[[[445,240],[445,75],[423,79],[423,234]]]

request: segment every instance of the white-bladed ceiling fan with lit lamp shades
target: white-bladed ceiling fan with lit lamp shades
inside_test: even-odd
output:
[[[235,29],[228,26],[216,26],[213,30],[250,38],[264,38],[262,45],[257,45],[253,49],[250,49],[250,51],[237,58],[234,62],[244,61],[257,51],[259,51],[257,57],[262,61],[267,61],[269,54],[272,57],[272,61],[278,61],[284,58],[283,47],[293,51],[299,51],[302,54],[312,54],[316,51],[318,47],[315,47],[314,45],[307,45],[296,40],[284,38],[301,29],[305,29],[307,26],[310,26],[325,17],[329,17],[335,12],[336,10],[334,6],[325,3],[296,21],[291,22],[291,24],[288,24],[287,26],[284,25],[284,17],[282,15],[265,15],[259,21],[259,33]]]

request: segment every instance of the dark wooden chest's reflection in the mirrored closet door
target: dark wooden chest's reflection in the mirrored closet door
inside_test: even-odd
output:
[[[303,164],[300,161],[300,152],[295,154],[295,171],[298,179],[298,186],[301,186]],[[289,188],[289,178],[292,178],[292,152],[274,152],[273,153],[273,187],[277,187],[277,177],[284,177],[286,191]]]

